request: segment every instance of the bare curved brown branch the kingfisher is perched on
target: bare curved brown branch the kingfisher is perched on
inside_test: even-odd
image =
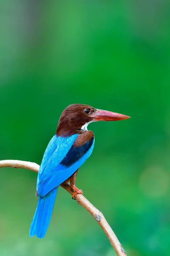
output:
[[[27,161],[20,161],[20,160],[2,160],[0,161],[0,168],[1,167],[14,167],[14,168],[23,168],[28,169],[33,172],[39,171],[40,166],[37,163],[31,163]],[[71,189],[70,184],[61,184],[63,189],[67,190],[71,195],[74,193],[74,190]],[[109,226],[108,222],[106,221],[105,217],[103,216],[102,212],[100,212],[96,207],[93,206],[83,195],[77,194],[75,196],[78,204],[84,207],[90,214],[96,219],[99,223],[102,230],[105,232],[106,236],[108,237],[112,247],[116,251],[117,256],[126,256],[125,250],[123,249],[122,245],[120,244],[119,240],[117,239],[115,233]]]

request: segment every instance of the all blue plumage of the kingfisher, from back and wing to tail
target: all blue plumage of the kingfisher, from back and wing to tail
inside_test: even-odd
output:
[[[40,238],[45,236],[58,186],[74,174],[93,151],[94,140],[85,143],[84,147],[71,148],[77,136],[78,134],[70,137],[54,135],[45,150],[37,177],[37,192],[40,198],[31,222],[30,236],[36,235]],[[72,160],[71,164],[68,164],[68,159]]]

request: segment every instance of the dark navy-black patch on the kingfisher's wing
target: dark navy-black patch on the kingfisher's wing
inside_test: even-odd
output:
[[[72,145],[71,149],[68,151],[66,156],[60,162],[60,164],[63,166],[69,167],[73,163],[76,163],[91,148],[93,141],[94,141],[94,136],[92,136],[90,140],[86,141],[81,146]]]

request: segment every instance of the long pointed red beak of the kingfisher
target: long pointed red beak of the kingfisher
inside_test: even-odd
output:
[[[130,118],[130,116],[125,116],[119,113],[114,113],[102,109],[97,109],[97,111],[94,112],[93,116],[95,121],[118,121]]]

